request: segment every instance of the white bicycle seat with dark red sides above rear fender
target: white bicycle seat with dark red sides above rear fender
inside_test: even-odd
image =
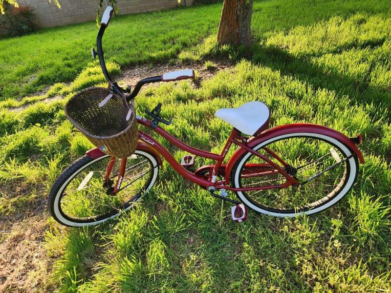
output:
[[[244,134],[258,135],[270,123],[270,110],[262,102],[253,101],[238,108],[218,109],[215,114]]]

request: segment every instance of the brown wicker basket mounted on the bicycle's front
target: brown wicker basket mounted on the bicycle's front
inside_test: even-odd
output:
[[[114,95],[102,107],[101,103],[109,90],[104,87],[90,87],[78,92],[65,105],[65,114],[94,145],[116,158],[126,158],[137,147],[137,122],[132,105],[132,115],[127,121],[129,109],[122,98]]]

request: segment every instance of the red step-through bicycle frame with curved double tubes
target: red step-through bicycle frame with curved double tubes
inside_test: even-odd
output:
[[[231,131],[230,136],[227,139],[227,142],[225,143],[225,146],[223,147],[220,154],[211,153],[208,151],[200,150],[198,148],[194,148],[192,146],[186,145],[182,141],[178,140],[176,137],[168,133],[166,130],[161,128],[160,126],[157,126],[155,129],[152,128],[151,124],[152,122],[148,119],[142,118],[137,116],[137,123],[140,125],[146,126],[152,131],[158,133],[162,137],[164,137],[166,140],[168,140],[170,143],[172,143],[174,146],[179,147],[180,149],[189,152],[191,154],[194,154],[199,157],[207,158],[216,161],[215,165],[211,167],[212,172],[210,172],[209,178],[204,179],[202,176],[196,175],[195,173],[190,172],[183,166],[181,166],[174,158],[174,156],[161,144],[159,144],[155,139],[153,139],[150,135],[144,133],[143,131],[138,131],[138,137],[141,141],[146,142],[149,144],[153,149],[155,149],[159,154],[161,154],[167,162],[171,165],[171,167],[174,168],[175,171],[177,171],[182,177],[186,178],[189,181],[192,181],[193,183],[202,186],[204,188],[214,187],[216,189],[228,189],[233,191],[250,191],[250,190],[261,190],[261,189],[272,189],[272,188],[287,188],[291,186],[292,184],[299,184],[299,182],[287,174],[282,167],[280,167],[278,164],[274,163],[267,157],[263,156],[262,154],[252,150],[248,146],[246,146],[247,138],[242,137],[240,135],[240,131],[233,128]],[[274,173],[281,173],[286,178],[286,183],[282,185],[270,185],[270,186],[261,186],[261,187],[251,187],[251,188],[233,188],[229,186],[230,183],[230,174],[226,174],[223,181],[217,181],[217,174],[219,173],[220,167],[222,167],[222,162],[224,161],[226,154],[228,153],[228,150],[232,146],[232,144],[235,144],[237,146],[240,146],[244,150],[253,153],[254,155],[260,157],[266,164],[260,164],[261,167],[273,167],[273,169],[277,170],[274,171]],[[278,157],[272,150],[268,148],[264,148],[268,154],[270,154],[272,157],[276,158],[279,162],[282,163],[283,166],[286,166],[287,163],[285,163],[280,157]],[[254,164],[252,164],[254,165]],[[205,166],[208,167],[208,166]],[[255,167],[255,166],[254,166]],[[200,167],[202,168],[202,167]],[[267,171],[265,174],[271,174],[270,171]]]

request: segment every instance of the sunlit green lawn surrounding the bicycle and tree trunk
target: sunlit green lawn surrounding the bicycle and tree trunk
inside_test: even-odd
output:
[[[114,221],[65,229],[48,218],[52,265],[37,290],[390,292],[390,8],[389,1],[256,1],[249,50],[216,45],[221,4],[113,19],[104,39],[112,74],[132,63],[235,63],[200,87],[182,81],[142,91],[138,113],[161,102],[162,116],[173,116],[165,128],[178,138],[218,152],[230,128],[214,112],[258,100],[270,107],[271,126],[307,122],[361,133],[366,164],[352,192],[318,215],[250,211],[238,225],[225,204],[220,227],[220,202],[164,163],[140,207]],[[73,93],[104,83],[88,59],[96,33],[91,22],[0,41],[0,215],[28,210],[90,148],[63,108]],[[46,94],[25,97],[43,86]],[[40,102],[58,94],[65,99]],[[27,107],[11,112],[15,106]],[[159,141],[178,160],[183,155]]]

